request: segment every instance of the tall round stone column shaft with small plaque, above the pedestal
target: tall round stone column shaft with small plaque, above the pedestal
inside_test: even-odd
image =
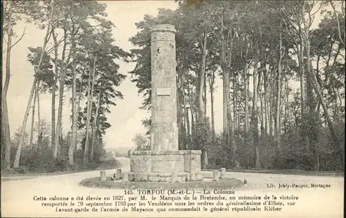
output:
[[[178,150],[174,26],[158,24],[152,34],[151,150]]]

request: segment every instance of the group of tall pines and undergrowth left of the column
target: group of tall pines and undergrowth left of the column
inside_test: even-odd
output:
[[[1,98],[1,170],[79,170],[98,166],[104,157],[102,137],[111,126],[107,113],[122,99],[118,86],[125,79],[116,61],[128,55],[116,46],[115,26],[105,9],[98,1],[3,1],[6,79]],[[13,134],[6,97],[14,82],[10,81],[11,49],[25,34],[14,31],[19,21],[33,23],[45,36],[42,47],[28,49],[34,79],[23,124]],[[40,115],[42,95],[51,95],[51,121]],[[64,134],[66,105],[72,108],[71,126]]]

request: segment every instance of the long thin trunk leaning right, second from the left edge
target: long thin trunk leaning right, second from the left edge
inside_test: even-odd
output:
[[[52,19],[53,19],[53,10],[54,10],[54,1],[52,1],[52,5],[51,5],[51,14],[50,14],[50,17],[49,17],[49,20],[48,20],[47,32],[46,32],[46,36],[44,37],[44,44],[42,46],[42,52],[41,52],[41,55],[39,57],[39,63],[37,64],[37,71],[39,71],[40,68],[41,68],[42,60],[43,60],[43,57],[44,57],[44,52],[46,50],[46,45],[48,43],[48,36],[50,34],[50,26],[51,26]],[[37,71],[35,71],[35,74],[37,73]],[[15,161],[13,163],[13,168],[18,168],[19,167],[19,160],[20,160],[20,157],[21,157],[21,148],[23,147],[24,135],[25,135],[25,130],[26,130],[26,122],[28,121],[30,104],[31,104],[31,101],[33,100],[33,94],[34,94],[34,91],[35,91],[35,84],[36,84],[36,82],[37,82],[37,78],[36,78],[36,75],[35,75],[35,78],[34,78],[34,81],[33,81],[33,86],[31,87],[31,91],[30,91],[30,95],[29,95],[28,104],[26,105],[26,112],[24,114],[23,125],[21,126],[21,136],[19,138],[19,143],[18,143],[18,147],[17,147]]]

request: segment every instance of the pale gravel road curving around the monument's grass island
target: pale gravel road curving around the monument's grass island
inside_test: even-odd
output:
[[[122,170],[129,170],[129,159],[117,158],[122,164]],[[115,170],[105,170],[111,175]],[[212,172],[203,172],[211,176]],[[15,181],[1,182],[1,217],[343,217],[343,177],[318,177],[304,175],[277,175],[248,172],[227,172],[227,177],[246,179],[246,186],[236,190],[236,196],[298,196],[299,200],[291,208],[282,212],[202,212],[179,213],[132,213],[118,215],[114,212],[98,214],[55,212],[55,207],[42,207],[43,201],[34,201],[33,197],[77,197],[77,196],[112,196],[124,195],[124,190],[104,188],[86,188],[79,186],[82,179],[100,176],[100,171],[78,172],[66,175],[35,177]],[[278,188],[279,184],[327,184],[330,188]],[[273,186],[275,186],[275,188]],[[268,186],[272,186],[269,188]]]

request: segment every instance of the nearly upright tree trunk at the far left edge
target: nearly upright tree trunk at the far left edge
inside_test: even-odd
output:
[[[7,49],[6,49],[6,78],[5,83],[3,84],[2,97],[1,97],[1,129],[3,135],[1,138],[5,142],[4,149],[4,165],[6,168],[10,168],[11,164],[11,137],[10,137],[10,121],[8,120],[8,106],[7,106],[7,92],[8,86],[10,85],[10,61],[11,61],[11,49],[12,49],[12,3],[8,1],[8,38],[7,38]],[[1,141],[2,143],[2,141]],[[2,147],[2,145],[1,145]]]

